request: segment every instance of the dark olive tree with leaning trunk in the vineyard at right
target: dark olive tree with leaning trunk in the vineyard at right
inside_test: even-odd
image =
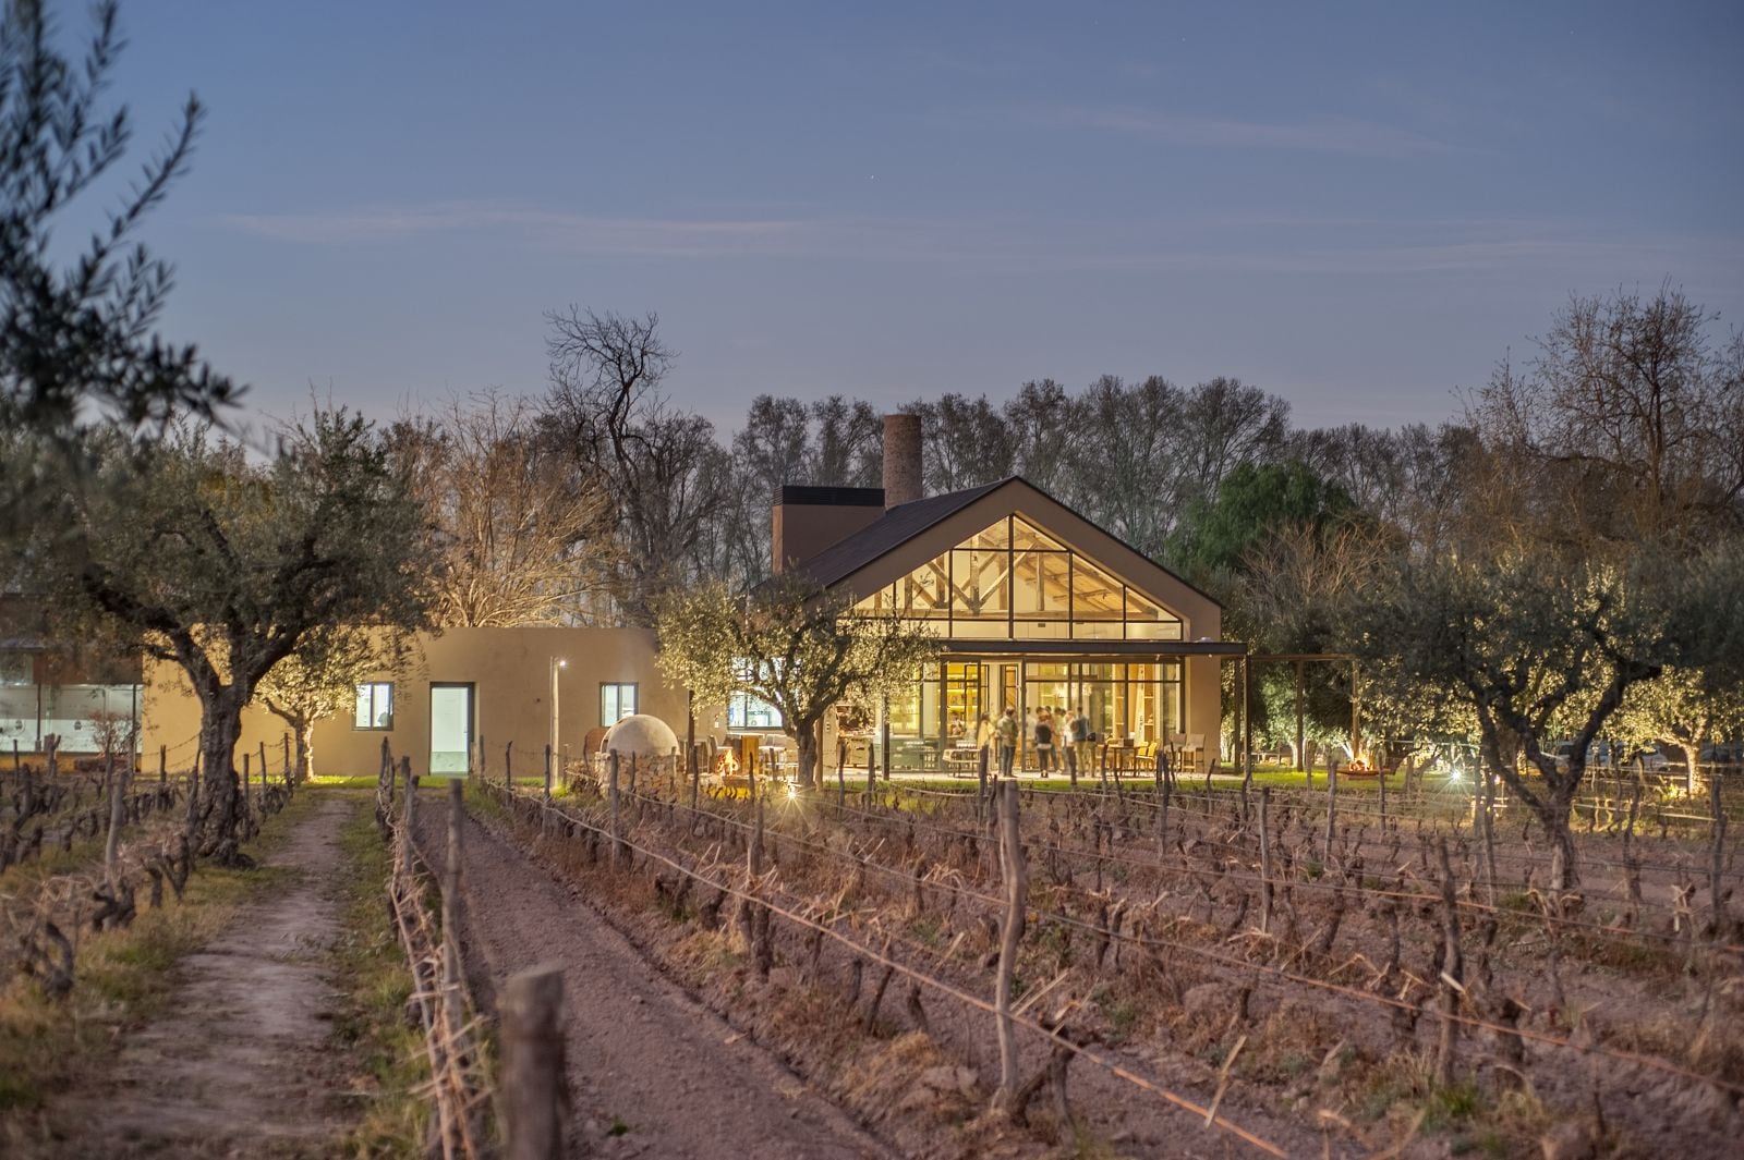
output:
[[[1454,691],[1477,719],[1489,775],[1552,843],[1550,888],[1578,885],[1570,815],[1592,742],[1631,690],[1671,665],[1721,669],[1744,655],[1744,552],[1721,543],[1667,570],[1509,550],[1413,559],[1353,608],[1369,679]],[[1552,744],[1568,737],[1557,759]],[[1523,758],[1519,763],[1516,758]]]

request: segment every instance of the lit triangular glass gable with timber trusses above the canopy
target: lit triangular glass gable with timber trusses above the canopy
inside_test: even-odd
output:
[[[957,641],[1181,639],[1179,617],[1022,516],[975,533],[858,608],[895,610]]]

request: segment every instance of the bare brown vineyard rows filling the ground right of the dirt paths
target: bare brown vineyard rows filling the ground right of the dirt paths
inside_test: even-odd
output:
[[[1718,792],[1721,826],[1596,792],[1552,895],[1507,803],[605,780],[478,805],[905,1151],[1725,1155],[1739,1127]]]

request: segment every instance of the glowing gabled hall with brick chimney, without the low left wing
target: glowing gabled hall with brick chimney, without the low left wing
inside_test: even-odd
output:
[[[889,705],[893,770],[942,768],[1005,707],[1083,709],[1104,738],[1216,751],[1219,667],[1245,653],[1219,639],[1217,601],[1020,477],[940,496],[919,481],[919,420],[886,416],[882,489],[783,488],[773,519],[778,571],[940,637]]]

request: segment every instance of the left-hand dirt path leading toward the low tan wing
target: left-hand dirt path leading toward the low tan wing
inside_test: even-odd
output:
[[[328,1157],[347,1120],[328,1040],[338,833],[324,798],[267,866],[295,873],[185,958],[169,1014],[129,1035],[91,1094],[56,1116],[59,1157]]]

